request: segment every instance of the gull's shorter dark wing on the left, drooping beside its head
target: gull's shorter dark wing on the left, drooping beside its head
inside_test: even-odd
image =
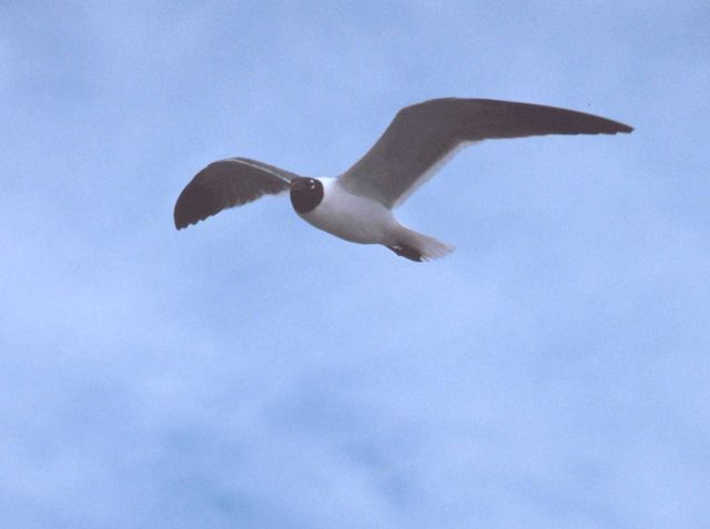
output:
[[[175,227],[187,227],[222,210],[246,204],[265,194],[283,193],[297,176],[245,157],[213,162],[180,193],[174,211]]]

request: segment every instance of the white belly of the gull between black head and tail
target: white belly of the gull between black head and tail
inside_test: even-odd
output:
[[[337,237],[361,244],[385,244],[396,225],[384,205],[346,192],[324,197],[318,206],[300,214],[306,222]]]

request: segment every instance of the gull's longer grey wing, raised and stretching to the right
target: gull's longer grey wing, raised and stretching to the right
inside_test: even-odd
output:
[[[487,99],[434,99],[402,109],[369,151],[338,179],[352,193],[393,207],[458,147],[499,138],[616,134],[633,129],[598,115]]]

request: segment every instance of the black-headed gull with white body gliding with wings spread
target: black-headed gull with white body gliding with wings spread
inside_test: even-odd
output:
[[[345,241],[381,244],[414,262],[449,244],[399,223],[394,210],[463,147],[547,134],[616,134],[633,129],[598,115],[532,103],[440,98],[405,106],[377,142],[337,177],[302,176],[247,157],[210,163],[180,193],[178,230],[263,195],[290,193],[295,213]]]

